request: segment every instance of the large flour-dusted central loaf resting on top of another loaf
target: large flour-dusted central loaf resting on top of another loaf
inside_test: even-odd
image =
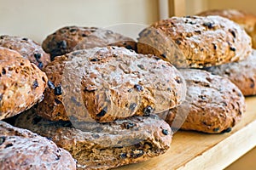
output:
[[[56,57],[44,71],[49,88],[37,111],[52,121],[112,122],[149,115],[180,105],[186,94],[174,66],[126,48],[75,51]]]

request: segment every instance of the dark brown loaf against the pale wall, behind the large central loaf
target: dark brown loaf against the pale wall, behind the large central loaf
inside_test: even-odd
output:
[[[130,37],[96,27],[65,26],[50,34],[42,46],[51,55],[67,54],[74,50],[105,47],[115,45],[129,49],[136,49],[137,45]]]

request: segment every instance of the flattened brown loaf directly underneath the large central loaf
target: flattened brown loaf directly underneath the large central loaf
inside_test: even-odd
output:
[[[81,169],[108,169],[146,161],[169,149],[172,130],[158,116],[133,116],[109,123],[50,122],[33,110],[21,114],[15,125],[49,137],[68,150]],[[81,129],[81,130],[79,130]]]

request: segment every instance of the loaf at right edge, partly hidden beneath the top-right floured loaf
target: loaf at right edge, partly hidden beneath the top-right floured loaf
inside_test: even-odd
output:
[[[243,95],[256,94],[256,51],[239,62],[205,68],[214,75],[229,78]]]

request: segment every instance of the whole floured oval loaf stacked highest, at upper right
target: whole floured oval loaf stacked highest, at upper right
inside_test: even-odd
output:
[[[172,17],[140,32],[137,51],[177,67],[201,68],[246,59],[252,43],[239,25],[220,16]]]

